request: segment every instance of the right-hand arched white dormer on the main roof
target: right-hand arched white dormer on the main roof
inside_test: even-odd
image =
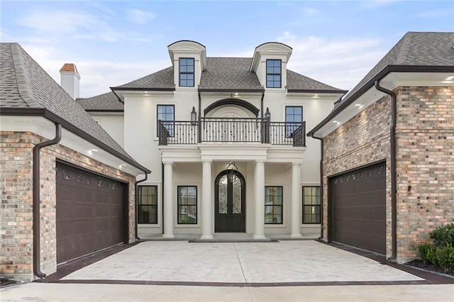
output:
[[[268,42],[255,47],[250,71],[255,72],[265,89],[281,90],[287,86],[287,62],[292,55],[292,47]]]

